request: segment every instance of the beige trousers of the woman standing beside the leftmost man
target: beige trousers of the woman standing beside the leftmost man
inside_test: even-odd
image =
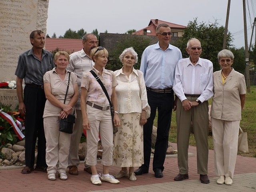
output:
[[[60,118],[49,116],[44,118],[44,133],[46,138],[47,172],[66,173],[71,134],[60,132]]]

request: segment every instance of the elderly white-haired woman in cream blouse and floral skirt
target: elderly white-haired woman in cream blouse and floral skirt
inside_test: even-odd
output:
[[[119,59],[123,67],[114,74],[118,82],[116,95],[121,126],[114,136],[113,166],[122,167],[116,178],[128,176],[135,181],[134,167],[144,163],[143,125],[150,106],[143,73],[133,67],[138,62],[138,54],[132,47],[126,48]]]

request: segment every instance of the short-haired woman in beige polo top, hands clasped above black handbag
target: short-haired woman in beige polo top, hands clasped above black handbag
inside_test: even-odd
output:
[[[46,164],[49,180],[56,180],[59,173],[61,180],[68,179],[68,154],[71,134],[60,132],[60,118],[66,118],[74,112],[78,100],[77,77],[66,70],[69,62],[67,52],[59,51],[54,56],[56,67],[44,74],[44,92],[46,103],[44,107],[44,132],[46,138]],[[70,74],[70,85],[64,104],[64,98]]]

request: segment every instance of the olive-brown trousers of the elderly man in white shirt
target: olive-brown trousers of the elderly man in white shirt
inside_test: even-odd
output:
[[[187,97],[190,101],[196,98]],[[178,100],[176,111],[178,167],[180,174],[188,174],[188,144],[191,133],[191,122],[196,140],[197,173],[208,172],[208,101],[186,111]]]

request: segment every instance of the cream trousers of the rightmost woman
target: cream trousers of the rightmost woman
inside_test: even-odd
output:
[[[234,176],[239,124],[240,120],[225,121],[212,118],[214,167],[218,176]]]

